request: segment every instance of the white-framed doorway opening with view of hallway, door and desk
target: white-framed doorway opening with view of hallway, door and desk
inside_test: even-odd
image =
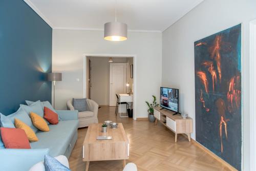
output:
[[[83,55],[83,97],[115,106],[116,115],[136,119],[135,55]]]

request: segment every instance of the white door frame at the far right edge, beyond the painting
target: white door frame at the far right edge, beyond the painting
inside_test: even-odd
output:
[[[250,22],[250,170],[256,170],[256,19]]]

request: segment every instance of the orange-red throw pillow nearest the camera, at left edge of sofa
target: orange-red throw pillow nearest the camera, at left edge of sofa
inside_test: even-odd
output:
[[[6,148],[31,148],[29,139],[24,130],[0,127],[0,131]]]

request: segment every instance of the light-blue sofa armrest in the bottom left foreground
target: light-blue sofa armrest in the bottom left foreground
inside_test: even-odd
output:
[[[34,164],[44,160],[49,148],[0,149],[0,170],[29,170]]]

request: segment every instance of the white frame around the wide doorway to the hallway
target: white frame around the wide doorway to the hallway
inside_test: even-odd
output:
[[[88,53],[84,53],[82,54],[82,58],[83,58],[83,76],[82,76],[82,96],[83,98],[86,98],[87,94],[86,94],[86,58],[87,57],[132,57],[133,58],[133,72],[134,72],[134,76],[133,76],[133,119],[136,120],[137,119],[137,113],[136,113],[136,94],[137,94],[137,89],[136,89],[136,84],[137,84],[137,55],[135,54],[88,54]]]

